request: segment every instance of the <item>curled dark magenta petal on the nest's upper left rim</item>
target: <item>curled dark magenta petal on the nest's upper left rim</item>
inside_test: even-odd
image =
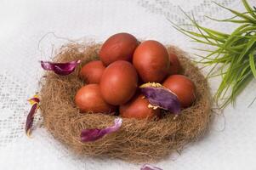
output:
[[[54,63],[49,61],[40,62],[44,70],[54,71],[56,74],[60,76],[66,76],[71,74],[71,72],[75,71],[77,65],[81,62],[81,60],[75,60],[67,63]]]

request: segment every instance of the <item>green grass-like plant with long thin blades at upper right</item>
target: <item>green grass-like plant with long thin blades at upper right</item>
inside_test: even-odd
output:
[[[198,55],[201,59],[196,62],[212,66],[208,77],[222,77],[222,82],[214,95],[220,108],[230,103],[234,104],[237,95],[247,87],[247,83],[253,77],[256,78],[256,8],[252,8],[247,0],[242,0],[242,3],[247,10],[244,13],[216,3],[235,14],[229,19],[217,20],[238,25],[230,34],[200,26],[193,15],[189,16],[184,11],[186,17],[191,20],[190,26],[196,27],[197,31],[186,30],[172,22],[175,29],[191,37],[194,42],[214,47],[213,50],[197,48],[208,52],[208,55]]]

